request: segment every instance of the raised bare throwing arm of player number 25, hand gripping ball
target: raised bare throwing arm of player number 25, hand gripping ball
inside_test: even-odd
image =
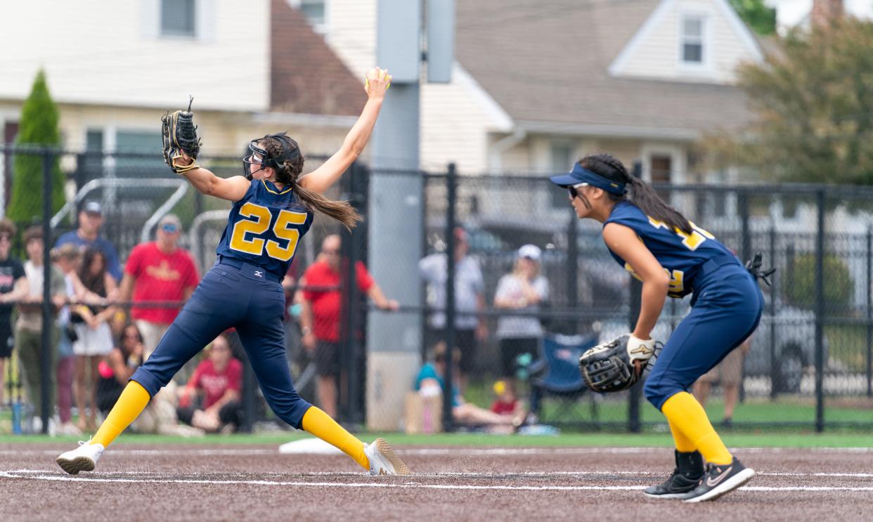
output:
[[[301,177],[300,185],[321,194],[340,179],[340,175],[358,159],[367,146],[370,134],[373,134],[376,118],[379,117],[379,111],[382,109],[382,100],[385,100],[385,91],[390,85],[391,75],[388,71],[376,67],[367,73],[364,90],[367,91],[368,100],[364,110],[361,111],[361,117],[355,122],[352,130],[348,131],[346,140],[342,142],[342,148],[319,168]]]

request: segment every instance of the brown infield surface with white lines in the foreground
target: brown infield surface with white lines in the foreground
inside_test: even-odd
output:
[[[869,520],[873,449],[739,450],[758,475],[716,502],[640,491],[672,469],[643,448],[422,448],[411,477],[369,477],[346,457],[276,447],[119,443],[98,470],[66,475],[66,447],[0,445],[0,520]]]

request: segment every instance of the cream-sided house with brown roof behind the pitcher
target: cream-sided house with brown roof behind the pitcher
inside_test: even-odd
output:
[[[306,154],[331,153],[366,101],[361,79],[285,0],[3,3],[0,46],[3,142],[39,69],[65,149],[154,151],[159,165],[160,116],[189,94],[204,156],[241,155],[280,130]],[[9,172],[7,157],[7,194]]]

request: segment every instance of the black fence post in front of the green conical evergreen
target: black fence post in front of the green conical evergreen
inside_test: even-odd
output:
[[[39,389],[42,401],[39,405],[39,416],[43,420],[43,434],[49,432],[50,394],[52,393],[52,380],[54,380],[54,367],[52,367],[52,259],[49,245],[52,244],[52,165],[54,154],[46,149],[43,154],[43,328],[40,335],[42,344],[39,361]],[[34,407],[36,404],[34,404]],[[81,414],[79,414],[81,415]]]

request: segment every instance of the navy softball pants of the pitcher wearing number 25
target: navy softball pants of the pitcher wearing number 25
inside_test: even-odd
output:
[[[312,405],[294,388],[285,357],[285,293],[262,267],[216,264],[170,325],[155,353],[131,376],[155,396],[183,364],[214,340],[236,327],[261,391],[283,421],[301,429]]]

